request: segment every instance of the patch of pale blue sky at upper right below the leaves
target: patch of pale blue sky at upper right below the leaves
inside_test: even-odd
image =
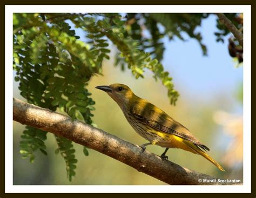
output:
[[[217,92],[234,91],[242,81],[242,67],[235,68],[233,59],[228,54],[227,43],[230,35],[225,37],[225,43],[217,43],[214,32],[216,17],[211,15],[198,28],[207,46],[208,56],[203,56],[198,42],[188,39],[187,42],[174,40],[166,43],[163,65],[174,76],[173,79],[183,86],[189,85],[189,91],[194,94],[206,93],[212,97]],[[181,85],[182,86],[182,85]]]

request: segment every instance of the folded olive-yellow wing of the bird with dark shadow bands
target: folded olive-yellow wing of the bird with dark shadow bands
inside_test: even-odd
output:
[[[193,142],[195,145],[210,151],[210,149],[201,144],[193,134],[178,121],[172,119],[160,108],[147,102],[146,100],[140,101],[140,103],[132,105],[131,114],[134,118],[144,122],[150,127],[157,129],[161,132],[177,135],[180,138]]]

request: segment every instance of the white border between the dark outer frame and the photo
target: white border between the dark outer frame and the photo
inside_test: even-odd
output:
[[[15,12],[243,12],[244,185],[17,186],[12,158],[12,13]],[[5,5],[5,193],[251,193],[251,5]]]

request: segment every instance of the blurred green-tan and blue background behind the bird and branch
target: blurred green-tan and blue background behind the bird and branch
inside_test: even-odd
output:
[[[228,54],[230,35],[225,37],[224,44],[215,42],[216,16],[204,19],[198,29],[207,46],[208,56],[203,56],[198,42],[185,34],[186,42],[163,39],[166,50],[162,63],[173,77],[174,88],[180,93],[176,106],[170,105],[166,88],[152,78],[150,71],[145,72],[144,79],[135,79],[130,70],[121,71],[120,67],[115,67],[111,57],[103,63],[103,76],[94,76],[87,87],[96,101],[93,121],[98,128],[132,144],[146,143],[127,123],[118,105],[106,93],[95,89],[98,85],[126,84],[139,97],[160,107],[190,129],[211,149],[208,154],[226,172],[220,172],[203,157],[180,149],[167,152],[170,161],[211,176],[242,181],[242,67],[235,67],[233,58]],[[76,29],[76,34],[84,40],[82,30]],[[24,100],[15,81],[14,97]],[[45,141],[48,156],[37,152],[34,163],[21,158],[19,141],[24,128],[14,122],[14,185],[166,185],[91,149],[89,156],[84,156],[83,147],[77,144],[76,176],[69,182],[62,156],[54,153],[57,145],[53,134],[48,133]],[[147,150],[160,155],[164,148],[148,146]]]

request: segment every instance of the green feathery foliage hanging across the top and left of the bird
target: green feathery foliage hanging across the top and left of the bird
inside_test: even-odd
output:
[[[156,80],[167,88],[170,103],[175,105],[179,93],[174,90],[169,72],[160,63],[165,36],[185,40],[183,33],[198,40],[207,53],[197,26],[206,13],[15,13],[14,54],[15,80],[21,95],[37,106],[61,111],[72,119],[95,125],[92,111],[95,101],[86,89],[93,75],[102,73],[104,59],[109,59],[109,44],[116,47],[116,65],[127,67],[135,78],[143,78],[150,70]],[[84,30],[82,42],[70,23]],[[226,29],[219,26],[225,32]],[[218,36],[218,35],[217,35]],[[26,127],[21,141],[23,158],[33,162],[35,151],[45,151],[46,132]],[[75,176],[77,159],[73,142],[55,136],[66,162],[69,180]],[[84,154],[89,153],[84,147]]]

